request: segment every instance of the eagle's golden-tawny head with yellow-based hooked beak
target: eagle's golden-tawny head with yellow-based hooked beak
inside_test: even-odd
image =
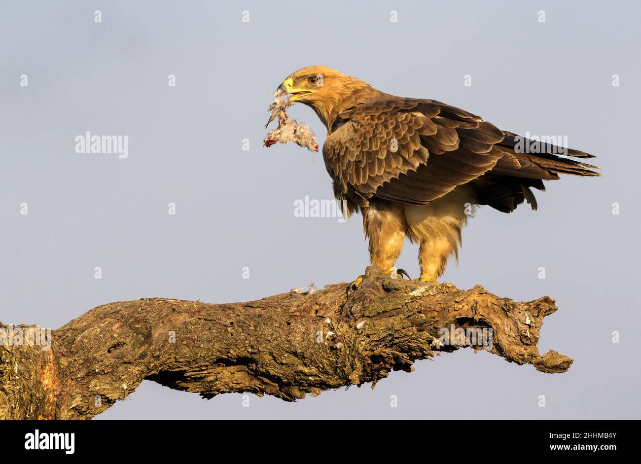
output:
[[[278,92],[291,94],[291,101],[311,106],[325,126],[338,112],[379,93],[367,82],[320,65],[292,72],[279,85]]]

